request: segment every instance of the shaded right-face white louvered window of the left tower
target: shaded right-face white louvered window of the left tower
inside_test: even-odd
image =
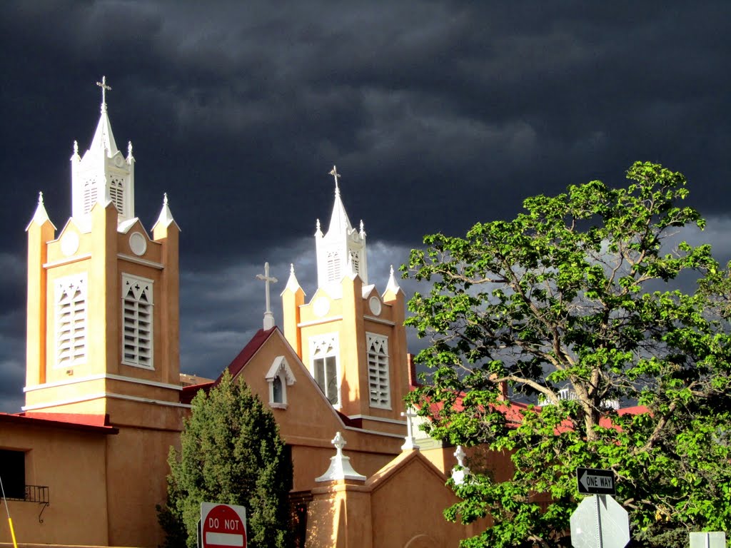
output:
[[[122,363],[153,368],[152,281],[122,275]]]

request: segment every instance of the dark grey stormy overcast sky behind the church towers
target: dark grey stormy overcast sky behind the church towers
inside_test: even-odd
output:
[[[23,403],[23,231],[39,191],[69,218],[102,75],[137,216],[167,192],[183,231],[181,368],[217,376],[261,327],[265,261],[273,295],[290,262],[314,293],[333,164],[381,290],[423,235],[635,160],[688,177],[727,259],[730,23],[727,0],[1,1],[0,411]]]

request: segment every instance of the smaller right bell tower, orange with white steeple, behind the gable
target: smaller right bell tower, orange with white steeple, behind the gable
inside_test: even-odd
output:
[[[341,199],[327,233],[315,232],[317,291],[310,302],[294,267],[282,292],[284,336],[330,403],[364,428],[402,434],[402,398],[408,390],[404,292],[393,268],[382,294],[368,284],[363,221],[352,227]]]

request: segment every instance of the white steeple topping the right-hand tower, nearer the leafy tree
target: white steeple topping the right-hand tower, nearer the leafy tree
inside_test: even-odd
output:
[[[337,295],[341,290],[344,276],[355,273],[364,284],[368,284],[368,263],[366,258],[366,231],[360,221],[360,231],[350,224],[340,197],[338,179],[340,174],[335,166],[330,171],[335,178],[335,203],[327,233],[322,235],[319,220],[315,232],[317,244],[317,286]]]

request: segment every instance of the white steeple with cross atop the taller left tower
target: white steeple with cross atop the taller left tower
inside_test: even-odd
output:
[[[102,107],[96,132],[88,150],[79,156],[77,142],[71,156],[72,216],[80,221],[88,217],[96,202],[112,202],[118,211],[118,221],[135,218],[135,158],[132,143],[127,156],[119,151],[107,116],[107,78],[97,82],[102,88]]]

